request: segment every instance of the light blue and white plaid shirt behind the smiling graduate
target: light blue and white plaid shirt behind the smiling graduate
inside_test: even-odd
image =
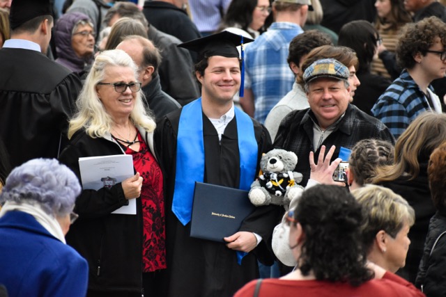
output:
[[[295,77],[286,58],[289,45],[303,30],[298,24],[272,23],[245,51],[245,88],[254,94],[254,118],[265,122],[270,110],[292,88]]]

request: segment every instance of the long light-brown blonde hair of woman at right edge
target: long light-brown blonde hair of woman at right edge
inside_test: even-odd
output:
[[[446,140],[446,114],[425,112],[407,127],[395,144],[394,165],[377,168],[372,184],[392,182],[405,173],[410,179],[420,174],[420,163],[428,162],[436,147]]]

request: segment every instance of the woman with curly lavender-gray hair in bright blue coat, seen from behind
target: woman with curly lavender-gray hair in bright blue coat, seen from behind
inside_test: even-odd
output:
[[[64,235],[81,187],[55,159],[15,168],[0,195],[0,284],[9,296],[85,296],[88,265]]]

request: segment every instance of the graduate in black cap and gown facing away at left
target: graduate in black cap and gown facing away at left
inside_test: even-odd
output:
[[[11,166],[56,158],[68,143],[68,118],[82,88],[77,74],[49,60],[49,0],[14,0],[11,38],[0,49],[0,138]]]

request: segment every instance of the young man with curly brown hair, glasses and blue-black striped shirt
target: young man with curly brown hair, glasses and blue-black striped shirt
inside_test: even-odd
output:
[[[403,72],[371,109],[395,138],[423,111],[442,113],[431,82],[446,74],[446,24],[438,17],[407,24],[398,40],[397,60]]]

